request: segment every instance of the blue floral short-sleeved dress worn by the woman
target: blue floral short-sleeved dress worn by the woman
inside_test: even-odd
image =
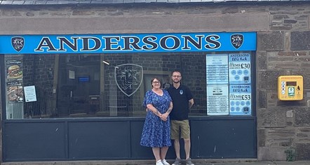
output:
[[[144,96],[143,106],[152,104],[161,114],[166,113],[172,101],[168,92],[163,89],[163,96],[159,96],[152,90],[147,91]],[[151,110],[147,111],[140,145],[151,148],[162,148],[171,146],[170,140],[170,117],[164,122],[160,117],[154,115]]]

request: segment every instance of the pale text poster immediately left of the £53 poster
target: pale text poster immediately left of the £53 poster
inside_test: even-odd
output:
[[[228,85],[207,86],[207,115],[229,115]]]

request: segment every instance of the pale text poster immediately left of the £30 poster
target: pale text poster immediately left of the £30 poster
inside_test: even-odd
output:
[[[207,84],[228,84],[228,54],[206,55]]]

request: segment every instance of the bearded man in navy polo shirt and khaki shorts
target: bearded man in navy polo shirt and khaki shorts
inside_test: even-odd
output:
[[[194,99],[189,88],[181,84],[182,76],[180,71],[173,71],[171,74],[173,85],[168,92],[173,99],[173,110],[170,113],[171,139],[174,140],[176,159],[173,165],[181,164],[180,158],[180,134],[184,139],[184,150],[187,165],[194,165],[189,157],[191,150],[191,139],[189,129],[189,109],[194,104]]]

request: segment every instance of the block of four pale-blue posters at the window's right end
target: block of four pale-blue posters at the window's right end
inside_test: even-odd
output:
[[[206,55],[207,115],[251,115],[250,53]]]

